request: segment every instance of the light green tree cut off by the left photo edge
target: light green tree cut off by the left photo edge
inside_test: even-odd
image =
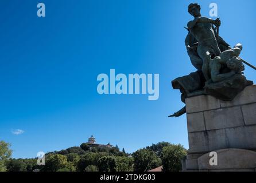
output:
[[[11,157],[12,150],[9,149],[10,144],[0,141],[0,172],[6,171],[5,161]]]

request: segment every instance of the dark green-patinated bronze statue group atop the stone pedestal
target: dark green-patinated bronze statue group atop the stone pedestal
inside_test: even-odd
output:
[[[243,75],[245,66],[255,67],[239,57],[242,45],[231,48],[219,35],[220,19],[202,17],[200,5],[191,3],[188,12],[194,17],[188,22],[188,35],[185,38],[187,53],[197,71],[172,81],[173,89],[185,98],[207,94],[223,101],[231,101],[246,86],[253,85]],[[217,30],[217,31],[216,31]],[[186,113],[185,107],[169,117],[179,117]]]

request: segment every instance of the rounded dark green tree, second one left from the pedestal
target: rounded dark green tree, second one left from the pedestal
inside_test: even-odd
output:
[[[161,165],[161,159],[149,149],[139,149],[133,153],[134,170],[138,172],[148,171]]]

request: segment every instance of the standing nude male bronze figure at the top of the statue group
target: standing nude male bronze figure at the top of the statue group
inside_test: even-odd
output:
[[[215,30],[213,25],[219,27],[221,22],[220,19],[216,20],[210,19],[207,17],[201,17],[200,6],[195,3],[191,3],[188,6],[188,12],[195,17],[193,21],[188,22],[188,30],[198,41],[197,53],[199,57],[203,60],[202,71],[205,79],[208,81],[210,79],[209,70],[209,62],[207,51],[211,54],[211,58],[218,56],[221,51],[218,46],[218,42],[215,37]],[[229,46],[223,39],[219,39],[222,41],[223,45]]]

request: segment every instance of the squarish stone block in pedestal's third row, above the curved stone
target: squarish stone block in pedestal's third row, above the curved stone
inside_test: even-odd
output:
[[[211,130],[208,134],[208,149],[209,151],[227,148],[225,129]]]

